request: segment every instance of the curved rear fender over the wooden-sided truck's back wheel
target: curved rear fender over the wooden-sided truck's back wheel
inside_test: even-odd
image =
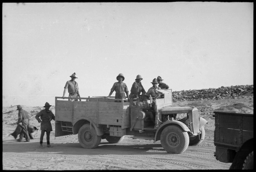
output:
[[[97,127],[96,124],[88,117],[78,118],[73,122],[73,134],[77,134],[80,127],[86,123],[90,123],[90,125],[93,126],[98,136],[102,136],[104,134],[103,128]]]

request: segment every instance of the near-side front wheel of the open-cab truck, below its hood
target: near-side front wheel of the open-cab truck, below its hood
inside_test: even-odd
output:
[[[165,127],[160,140],[162,147],[168,153],[183,153],[189,147],[189,134],[178,125]]]

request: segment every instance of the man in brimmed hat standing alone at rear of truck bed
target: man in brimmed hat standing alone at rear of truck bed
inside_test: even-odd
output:
[[[78,91],[79,90],[78,84],[75,81],[75,79],[77,78],[75,72],[70,77],[71,77],[71,80],[67,81],[66,85],[64,87],[64,92],[63,92],[62,98],[64,99],[66,90],[69,93],[68,97],[79,97],[80,98],[80,94]],[[72,101],[72,99],[68,99],[68,101]],[[75,101],[77,101],[77,99],[75,99]],[[80,101],[81,101],[81,99],[80,99]]]

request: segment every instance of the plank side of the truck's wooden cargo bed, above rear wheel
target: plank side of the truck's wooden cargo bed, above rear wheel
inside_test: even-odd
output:
[[[57,98],[60,97],[56,97],[56,121],[73,123],[79,118],[87,117],[96,125],[117,125],[122,129],[130,127],[129,102],[106,101],[102,98],[71,102]]]

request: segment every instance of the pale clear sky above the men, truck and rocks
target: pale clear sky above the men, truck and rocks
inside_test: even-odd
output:
[[[3,107],[55,105],[74,72],[81,97],[119,73],[129,92],[138,74],[146,91],[253,85],[253,3],[2,4]]]

